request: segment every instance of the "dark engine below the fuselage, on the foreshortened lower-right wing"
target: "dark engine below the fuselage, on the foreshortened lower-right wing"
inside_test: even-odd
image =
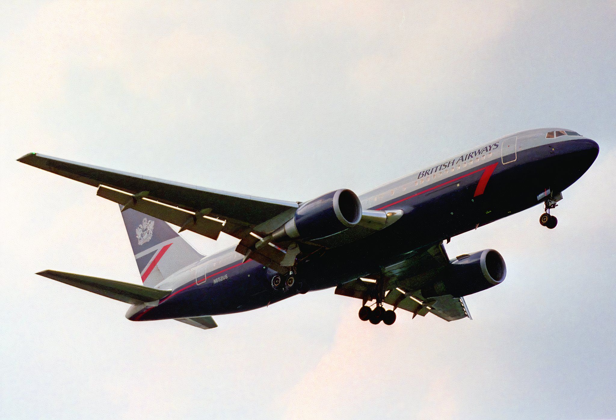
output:
[[[458,256],[436,282],[421,289],[421,295],[424,298],[444,295],[460,298],[500,284],[506,274],[507,267],[500,253],[477,251]]]

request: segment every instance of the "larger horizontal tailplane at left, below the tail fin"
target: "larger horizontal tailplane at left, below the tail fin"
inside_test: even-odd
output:
[[[98,295],[107,296],[107,298],[131,304],[153,302],[171,293],[171,290],[160,290],[134,283],[100,279],[99,277],[90,277],[89,275],[73,274],[70,272],[45,270],[36,274],[97,293]]]

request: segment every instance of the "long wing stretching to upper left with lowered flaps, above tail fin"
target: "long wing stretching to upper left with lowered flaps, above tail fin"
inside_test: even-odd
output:
[[[71,180],[98,186],[97,195],[114,201],[123,208],[154,216],[217,239],[225,232],[240,239],[237,251],[247,254],[261,237],[293,217],[297,202],[271,200],[235,194],[199,186],[165,181],[158,178],[80,164],[36,153],[26,154],[19,162],[62,175]],[[251,250],[250,258],[278,272],[289,271],[280,263],[285,250],[271,246]]]

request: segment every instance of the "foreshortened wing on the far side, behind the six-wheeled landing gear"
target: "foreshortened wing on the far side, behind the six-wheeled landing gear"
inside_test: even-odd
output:
[[[386,293],[383,302],[426,316],[429,312],[447,321],[471,316],[464,303],[464,298],[451,295],[425,299],[419,289],[426,280],[434,278],[450,264],[442,242],[416,250],[407,260],[385,267],[381,273],[368,275],[364,279],[353,280],[336,287],[337,295],[351,296],[371,301],[379,293],[376,279],[383,281]]]

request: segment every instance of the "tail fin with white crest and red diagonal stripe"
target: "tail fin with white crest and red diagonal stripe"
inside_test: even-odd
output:
[[[170,274],[203,258],[163,220],[132,208],[124,210],[122,218],[145,286],[156,287]]]

